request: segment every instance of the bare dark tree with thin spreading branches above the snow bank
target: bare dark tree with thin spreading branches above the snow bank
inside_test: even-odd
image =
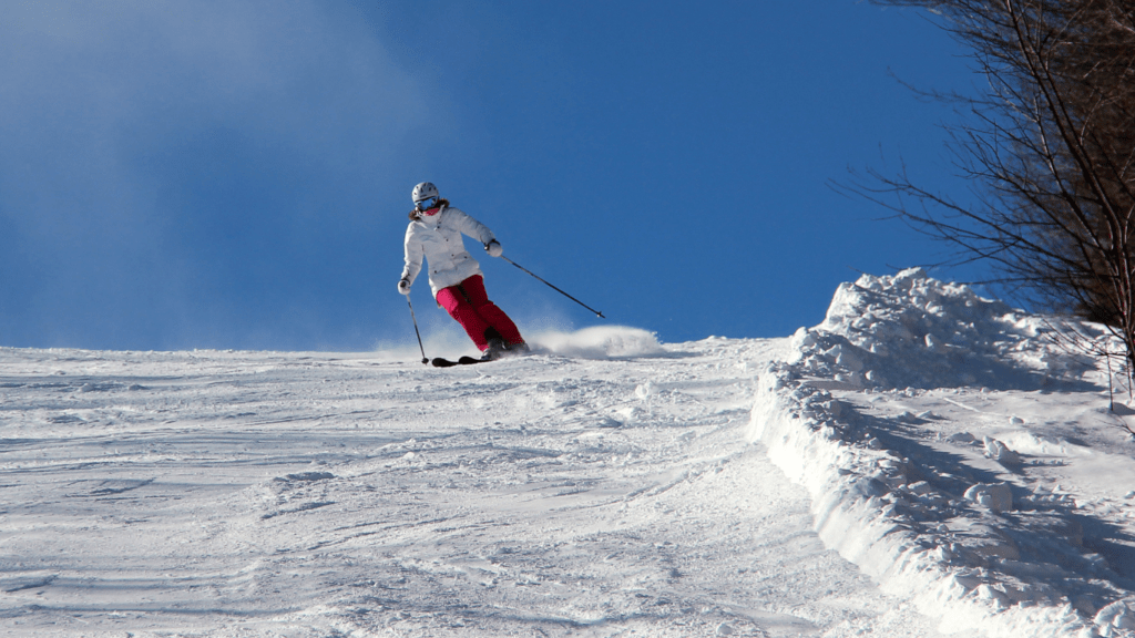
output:
[[[953,265],[987,262],[1023,300],[1104,324],[1135,369],[1135,7],[873,1],[931,9],[985,77],[973,96],[916,90],[966,116],[947,128],[976,203],[917,186],[906,167],[833,186],[953,245]]]

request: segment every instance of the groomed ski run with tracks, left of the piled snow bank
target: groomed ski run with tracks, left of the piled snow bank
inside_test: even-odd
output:
[[[0,631],[936,636],[746,443],[787,339],[605,335],[447,370],[0,349]]]

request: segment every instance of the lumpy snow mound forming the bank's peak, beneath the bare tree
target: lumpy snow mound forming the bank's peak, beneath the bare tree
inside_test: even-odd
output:
[[[793,363],[848,387],[1039,389],[1093,366],[1051,342],[1104,338],[1078,322],[1015,311],[920,268],[835,291],[824,322],[800,328]]]

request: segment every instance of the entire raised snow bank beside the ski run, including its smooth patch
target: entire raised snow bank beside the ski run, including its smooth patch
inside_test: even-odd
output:
[[[864,276],[763,376],[749,437],[827,546],[943,630],[1130,636],[1135,443],[1103,363],[1067,347],[1105,338],[917,269]]]

